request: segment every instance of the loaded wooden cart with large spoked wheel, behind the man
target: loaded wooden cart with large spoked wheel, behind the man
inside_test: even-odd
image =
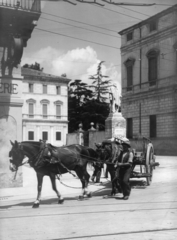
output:
[[[150,185],[152,182],[153,170],[156,166],[159,166],[159,163],[155,161],[156,156],[151,140],[143,137],[139,141],[141,149],[140,147],[138,150],[135,148],[131,149],[134,155],[131,178],[146,178],[147,185]],[[105,148],[106,145],[112,146],[115,142],[121,145],[123,139],[106,139],[102,142],[102,147]]]

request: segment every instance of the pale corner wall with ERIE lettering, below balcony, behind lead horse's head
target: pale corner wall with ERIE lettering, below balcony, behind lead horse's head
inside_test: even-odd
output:
[[[22,186],[22,171],[16,180],[9,170],[10,140],[22,141],[22,77],[20,69],[15,77],[2,77],[0,71],[0,188]]]

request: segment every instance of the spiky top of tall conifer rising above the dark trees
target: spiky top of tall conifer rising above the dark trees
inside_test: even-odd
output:
[[[90,76],[89,79],[92,79],[92,85],[90,85],[91,88],[94,89],[94,96],[96,97],[98,102],[105,102],[107,100],[107,97],[105,95],[108,94],[108,87],[111,84],[111,80],[104,80],[104,78],[108,78],[108,76],[102,75],[101,73],[101,67],[104,61],[101,61],[98,64],[97,73],[95,75]]]

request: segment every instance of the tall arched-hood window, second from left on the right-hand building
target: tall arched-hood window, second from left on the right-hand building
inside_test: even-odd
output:
[[[156,81],[158,78],[158,55],[159,50],[151,50],[147,53],[148,58],[148,80],[149,85],[156,85]]]

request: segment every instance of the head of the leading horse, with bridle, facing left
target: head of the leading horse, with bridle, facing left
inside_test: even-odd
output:
[[[14,172],[17,171],[18,167],[22,165],[25,155],[23,152],[23,147],[17,141],[15,141],[14,143],[12,141],[10,142],[12,144],[12,149],[9,152],[9,168],[12,172]]]

